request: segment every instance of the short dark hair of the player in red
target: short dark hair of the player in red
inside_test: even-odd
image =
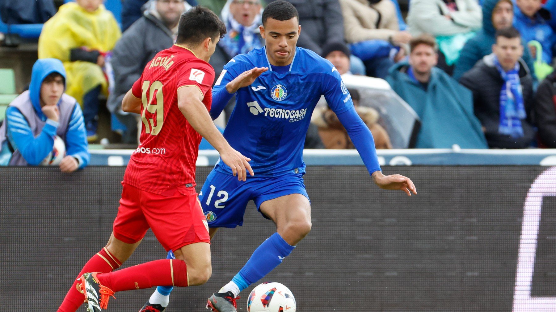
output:
[[[176,42],[197,45],[208,37],[216,39],[220,36],[222,38],[225,34],[226,25],[220,21],[220,18],[214,12],[196,6],[181,14]]]

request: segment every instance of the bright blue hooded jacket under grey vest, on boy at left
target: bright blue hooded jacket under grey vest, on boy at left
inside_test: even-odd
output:
[[[60,60],[39,59],[33,65],[28,96],[34,113],[39,119],[46,121],[38,136],[33,135],[31,126],[19,109],[9,106],[6,110],[7,139],[12,147],[17,149],[32,166],[37,166],[52,151],[54,136],[57,133],[58,122],[47,119],[41,110],[40,102],[41,84],[44,78],[52,73],[59,73],[64,80],[66,79],[66,70]],[[23,95],[18,96],[14,101],[24,101],[25,99],[21,99],[21,96]],[[90,155],[83,112],[79,104],[75,105],[71,113],[64,143],[66,144],[66,155],[76,158],[80,168],[87,166]]]

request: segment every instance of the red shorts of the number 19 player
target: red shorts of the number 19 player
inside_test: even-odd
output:
[[[199,242],[210,243],[209,226],[195,188],[183,188],[162,196],[123,183],[114,236],[133,244],[151,228],[158,242],[168,250]]]

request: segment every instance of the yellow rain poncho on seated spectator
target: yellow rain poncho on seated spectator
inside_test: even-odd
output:
[[[83,95],[102,85],[106,94],[108,83],[102,69],[90,62],[69,61],[69,50],[86,47],[100,52],[114,48],[122,33],[116,19],[102,4],[87,12],[75,2],[63,4],[58,13],[44,23],[38,39],[38,58],[57,58],[66,68],[66,93],[83,105]]]

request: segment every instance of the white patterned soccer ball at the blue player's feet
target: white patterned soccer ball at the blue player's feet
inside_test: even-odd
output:
[[[247,300],[249,312],[295,312],[295,298],[284,285],[276,282],[255,287]]]

